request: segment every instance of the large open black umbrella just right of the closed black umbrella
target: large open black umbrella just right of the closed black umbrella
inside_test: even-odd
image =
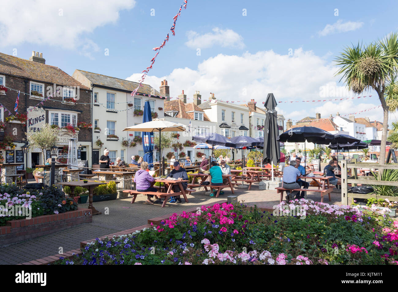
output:
[[[316,128],[316,127],[297,127],[292,128],[289,131],[283,132],[278,141],[280,142],[311,142],[316,144],[329,144],[334,139],[334,135]],[[304,168],[306,167],[306,161],[304,160]]]

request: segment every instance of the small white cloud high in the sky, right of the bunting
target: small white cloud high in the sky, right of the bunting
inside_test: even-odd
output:
[[[200,35],[196,31],[187,32],[188,41],[185,43],[189,48],[210,48],[212,46],[244,48],[243,38],[232,29],[213,28],[213,33]]]

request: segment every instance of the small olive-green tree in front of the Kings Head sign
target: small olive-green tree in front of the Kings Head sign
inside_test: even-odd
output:
[[[50,124],[45,124],[40,131],[31,134],[25,133],[31,148],[40,148],[43,153],[43,163],[45,161],[45,149],[55,145],[58,141],[59,129],[51,128]]]

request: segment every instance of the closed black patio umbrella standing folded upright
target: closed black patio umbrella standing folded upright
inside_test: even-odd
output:
[[[263,150],[263,163],[271,163],[271,180],[273,181],[273,162],[279,162],[281,159],[281,148],[277,141],[279,130],[277,124],[277,111],[275,110],[277,102],[273,93],[268,93],[267,99],[264,103],[267,108],[264,123],[264,150]]]

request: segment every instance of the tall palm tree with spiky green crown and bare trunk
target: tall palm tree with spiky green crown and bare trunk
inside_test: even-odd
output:
[[[336,75],[342,75],[341,79],[344,79],[349,90],[357,94],[371,89],[377,92],[383,108],[380,149],[386,149],[388,111],[396,110],[394,104],[398,100],[394,90],[394,76],[398,72],[398,34],[391,33],[369,45],[358,43],[346,47],[335,61],[336,65],[341,66]],[[380,151],[379,164],[384,164],[385,157],[385,151]]]

